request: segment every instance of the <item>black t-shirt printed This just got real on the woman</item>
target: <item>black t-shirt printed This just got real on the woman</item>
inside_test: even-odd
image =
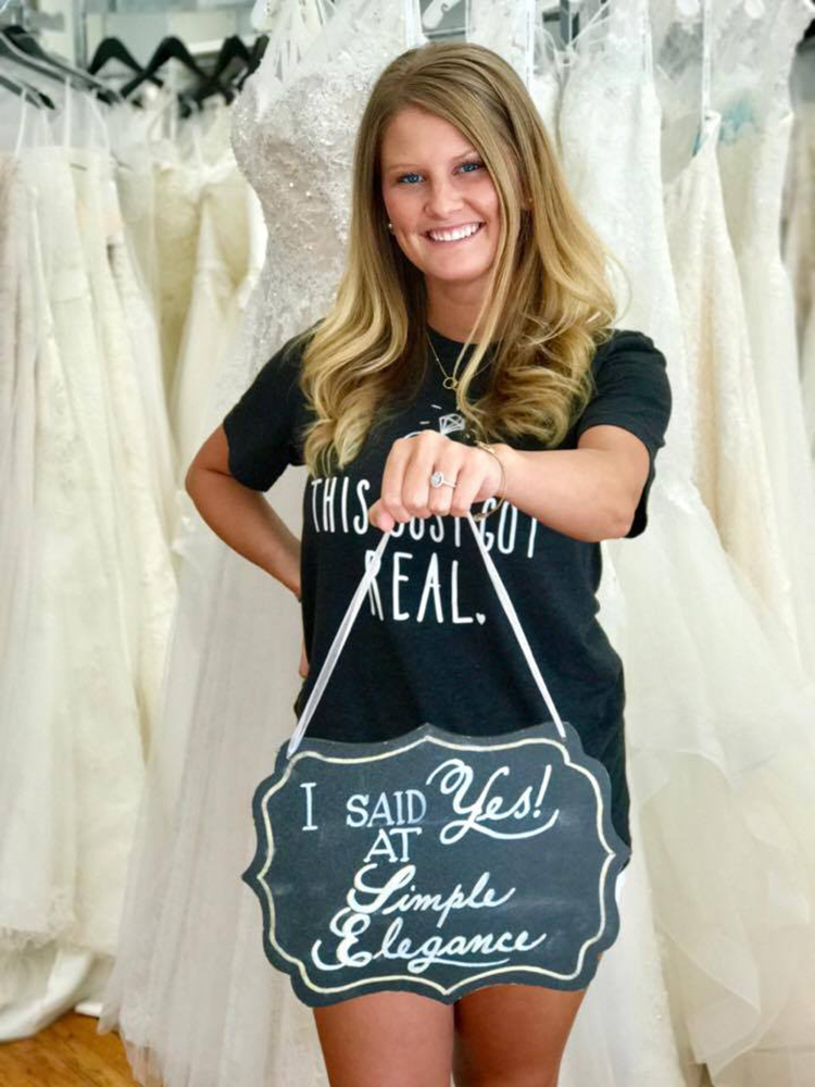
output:
[[[462,345],[434,329],[430,336],[451,373]],[[300,360],[301,352],[285,345],[224,420],[229,471],[247,487],[267,490],[287,464],[303,463],[300,435],[311,415],[298,380]],[[472,390],[476,395],[488,367],[489,358]],[[642,440],[650,471],[628,533],[638,536],[645,528],[654,460],[670,415],[665,359],[643,334],[615,330],[595,351],[592,371],[597,393],[557,448],[575,449],[580,435],[600,424]],[[367,509],[379,498],[391,445],[426,427],[472,441],[455,393],[442,382],[430,358],[418,396],[371,432],[351,464],[328,478],[308,478],[301,591],[309,676],[294,702],[298,716],[362,578],[365,554],[381,539]],[[535,438],[509,443],[543,448]],[[597,620],[600,545],[557,533],[509,503],[479,530],[560,715],[609,771],[612,819],[630,842],[623,667]],[[308,735],[372,741],[426,722],[494,735],[548,721],[467,520],[414,517],[397,524],[392,537]]]

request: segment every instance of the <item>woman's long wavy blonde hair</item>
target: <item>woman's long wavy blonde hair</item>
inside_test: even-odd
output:
[[[356,135],[350,235],[335,302],[297,340],[304,347],[301,387],[315,416],[303,432],[314,476],[352,461],[372,427],[405,391],[417,391],[426,373],[424,276],[387,228],[379,170],[385,130],[408,105],[442,117],[473,143],[500,202],[491,285],[474,325],[481,335],[456,393],[468,428],[481,440],[534,436],[559,445],[591,399],[591,359],[616,317],[605,265],[614,257],[574,201],[515,71],[480,46],[410,49],[377,79]],[[471,400],[490,343],[489,386]]]

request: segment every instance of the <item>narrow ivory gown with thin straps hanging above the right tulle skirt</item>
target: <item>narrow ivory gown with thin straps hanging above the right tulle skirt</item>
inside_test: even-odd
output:
[[[755,366],[716,159],[720,125],[720,116],[709,113],[697,153],[665,189],[688,351],[693,482],[724,549],[763,602],[765,622],[777,624],[779,635],[794,646],[793,590],[781,554]]]

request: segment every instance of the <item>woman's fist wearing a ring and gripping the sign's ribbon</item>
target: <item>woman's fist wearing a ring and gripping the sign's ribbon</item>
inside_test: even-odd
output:
[[[500,453],[500,447],[496,450]],[[434,472],[455,483],[430,486]],[[437,514],[463,517],[474,502],[492,498],[501,486],[501,465],[492,453],[454,441],[436,430],[397,438],[388,453],[381,495],[368,510],[372,524],[390,532],[397,522]]]

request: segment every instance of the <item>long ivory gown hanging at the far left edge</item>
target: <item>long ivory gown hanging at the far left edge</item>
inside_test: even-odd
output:
[[[142,787],[136,638],[122,607],[111,497],[110,428],[124,425],[111,418],[99,379],[71,162],[68,148],[26,145],[16,163],[33,325],[16,363],[21,389],[33,383],[36,437],[15,452],[30,458],[18,471],[36,486],[20,578],[27,599],[0,679],[4,1039],[71,1007],[95,953],[115,951]],[[21,426],[25,418],[24,409]]]

